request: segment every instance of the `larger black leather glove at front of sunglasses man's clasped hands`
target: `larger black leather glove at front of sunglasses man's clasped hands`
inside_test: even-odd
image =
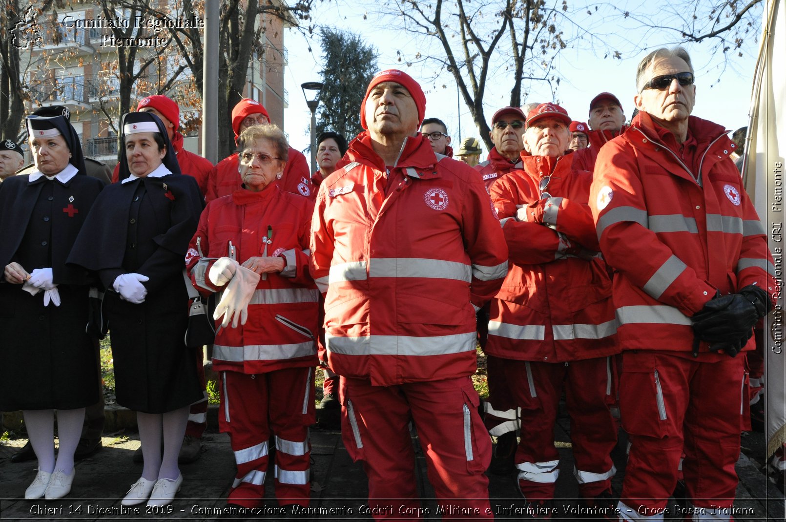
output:
[[[759,314],[742,294],[726,294],[704,304],[692,317],[693,333],[710,344],[736,339],[753,329]]]

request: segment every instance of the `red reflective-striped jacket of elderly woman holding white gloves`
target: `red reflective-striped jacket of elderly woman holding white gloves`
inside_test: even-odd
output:
[[[317,364],[314,340],[319,292],[309,274],[307,252],[313,207],[310,200],[274,185],[262,192],[237,190],[211,201],[202,212],[185,255],[185,265],[200,292],[222,289],[207,276],[215,259],[229,254],[230,241],[237,248],[238,263],[263,255],[286,261],[281,273],[259,279],[248,306],[248,322],[216,332],[216,371],[266,373]],[[272,227],[271,242],[265,249],[268,226]]]

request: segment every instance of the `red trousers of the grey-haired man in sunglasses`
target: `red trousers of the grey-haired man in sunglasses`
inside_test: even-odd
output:
[[[623,519],[663,517],[678,465],[692,505],[730,508],[740,457],[744,357],[699,362],[667,351],[626,351],[619,384],[630,456]],[[729,518],[729,517],[726,517]]]

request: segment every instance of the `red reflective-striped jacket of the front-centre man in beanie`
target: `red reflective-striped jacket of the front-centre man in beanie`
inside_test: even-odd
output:
[[[363,132],[322,182],[311,233],[325,296],[329,366],[374,385],[476,370],[476,308],[499,289],[508,250],[471,167],[410,137],[387,167]]]

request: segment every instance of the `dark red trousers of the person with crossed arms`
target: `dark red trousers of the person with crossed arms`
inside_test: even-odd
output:
[[[527,500],[554,498],[560,454],[554,425],[565,391],[578,491],[586,498],[608,491],[616,469],[612,450],[617,428],[609,410],[616,394],[608,357],[571,362],[504,360],[511,392],[521,408],[521,442],[516,450],[519,487]]]

